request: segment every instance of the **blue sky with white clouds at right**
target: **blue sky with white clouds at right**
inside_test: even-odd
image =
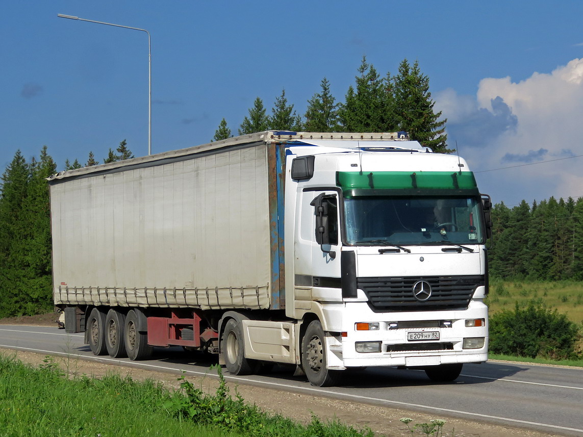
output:
[[[236,133],[283,88],[300,114],[323,77],[342,101],[363,55],[381,75],[408,58],[494,202],[583,196],[583,2],[5,2],[2,171],[43,145],[59,170],[123,139],[147,153],[146,34],[58,13],[150,32],[153,153],[209,142],[223,117]]]

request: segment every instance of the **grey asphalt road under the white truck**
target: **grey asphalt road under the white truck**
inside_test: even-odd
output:
[[[83,334],[67,334],[56,327],[0,326],[0,347],[192,375],[207,374],[209,366],[216,362],[181,348],[156,348],[154,359],[147,361],[95,357],[83,344]],[[325,389],[312,387],[305,378],[292,375],[293,369],[276,366],[266,376],[226,373],[226,378],[554,435],[583,436],[583,369],[500,362],[466,364],[455,382],[437,384],[423,371],[368,368],[346,372],[338,387]]]

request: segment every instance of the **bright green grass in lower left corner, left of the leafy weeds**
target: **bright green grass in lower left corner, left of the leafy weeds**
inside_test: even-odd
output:
[[[170,394],[152,381],[135,382],[117,375],[64,376],[51,358],[35,369],[0,355],[0,435],[229,435],[174,420],[160,407]]]

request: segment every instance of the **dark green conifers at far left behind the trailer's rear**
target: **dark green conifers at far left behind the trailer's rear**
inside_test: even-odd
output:
[[[104,163],[134,157],[123,140]],[[93,153],[85,166],[97,165]],[[76,159],[65,170],[81,168]],[[47,178],[57,164],[43,146],[29,162],[17,150],[0,177],[0,318],[52,309],[51,212]]]

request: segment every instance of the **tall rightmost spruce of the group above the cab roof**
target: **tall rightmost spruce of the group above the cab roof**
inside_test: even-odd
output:
[[[419,141],[423,146],[431,147],[439,153],[451,153],[447,148],[445,122],[441,111],[434,112],[435,102],[431,100],[429,77],[421,73],[419,62],[409,65],[403,59],[399,65],[398,75],[392,78],[395,101],[395,121],[401,131]]]

